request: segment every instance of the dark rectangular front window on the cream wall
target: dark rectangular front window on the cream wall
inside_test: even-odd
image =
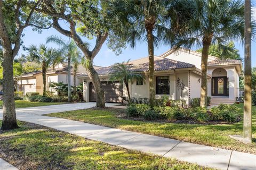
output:
[[[170,94],[169,76],[156,77],[156,94],[157,95],[169,95]]]

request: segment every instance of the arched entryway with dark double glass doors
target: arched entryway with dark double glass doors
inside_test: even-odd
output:
[[[228,96],[227,71],[222,68],[212,72],[212,96]]]

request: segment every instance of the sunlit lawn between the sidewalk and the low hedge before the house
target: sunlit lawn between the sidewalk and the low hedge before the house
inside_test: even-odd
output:
[[[243,115],[243,104],[237,105],[239,113]],[[252,133],[253,143],[245,145],[229,138],[229,134],[243,134],[243,122],[234,124],[178,124],[156,123],[126,120],[118,118],[113,109],[84,109],[78,111],[47,114],[47,116],[62,117],[70,120],[87,122],[118,128],[128,131],[158,135],[201,145],[220,147],[224,149],[238,150],[256,154],[256,107],[253,106]]]

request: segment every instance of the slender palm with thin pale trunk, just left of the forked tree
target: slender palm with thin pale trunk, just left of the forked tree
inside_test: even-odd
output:
[[[71,58],[77,55],[77,46],[74,40],[67,41],[58,36],[50,36],[46,38],[46,43],[55,43],[60,46],[62,54],[66,55],[68,61],[68,102],[71,101]],[[75,77],[75,75],[74,75]]]

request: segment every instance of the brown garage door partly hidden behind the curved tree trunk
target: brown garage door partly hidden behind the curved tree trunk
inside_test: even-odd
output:
[[[118,81],[116,82],[101,82],[103,90],[105,92],[105,101],[106,102],[114,102],[114,103],[122,103],[123,96],[123,86]],[[93,87],[92,82],[89,84],[89,100],[96,101],[96,93]]]

